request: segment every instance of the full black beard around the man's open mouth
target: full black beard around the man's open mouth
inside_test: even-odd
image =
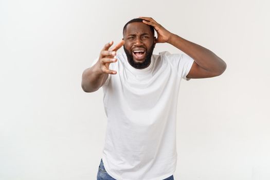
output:
[[[149,51],[146,52],[146,59],[142,63],[135,62],[134,59],[133,59],[132,54],[129,53],[129,51],[125,47],[124,47],[124,52],[127,55],[128,62],[130,63],[130,65],[132,67],[135,67],[136,69],[144,69],[144,68],[148,67],[150,65],[150,63],[151,63],[151,57],[152,57],[152,53],[153,53],[154,47],[155,46],[153,44],[151,46],[151,48],[149,49]]]

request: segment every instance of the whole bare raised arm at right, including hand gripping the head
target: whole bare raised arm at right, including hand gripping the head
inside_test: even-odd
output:
[[[169,43],[190,56],[194,62],[187,78],[211,78],[220,76],[226,69],[226,63],[209,49],[187,41],[169,32],[151,17],[139,17],[143,23],[151,25],[157,32],[156,43]]]

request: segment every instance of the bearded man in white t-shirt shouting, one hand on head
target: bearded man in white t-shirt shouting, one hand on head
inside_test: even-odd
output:
[[[181,79],[219,76],[226,63],[151,17],[128,22],[122,40],[112,49],[113,42],[106,44],[99,59],[82,75],[85,92],[102,87],[104,93],[107,130],[97,178],[173,179]],[[156,43],[169,43],[187,55],[153,55]],[[122,45],[125,53],[116,53]]]

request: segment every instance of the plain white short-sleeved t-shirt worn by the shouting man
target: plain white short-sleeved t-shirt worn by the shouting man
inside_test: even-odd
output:
[[[103,87],[107,129],[103,164],[117,180],[161,180],[176,170],[176,111],[181,79],[193,59],[185,54],[152,55],[145,69],[117,53]],[[97,60],[96,60],[97,61]],[[95,62],[93,63],[95,64]]]

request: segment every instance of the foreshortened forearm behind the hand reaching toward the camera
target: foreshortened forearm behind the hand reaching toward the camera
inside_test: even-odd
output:
[[[99,72],[96,65],[87,68],[82,74],[82,89],[86,93],[92,93],[97,91],[102,85],[108,74],[102,74]]]

